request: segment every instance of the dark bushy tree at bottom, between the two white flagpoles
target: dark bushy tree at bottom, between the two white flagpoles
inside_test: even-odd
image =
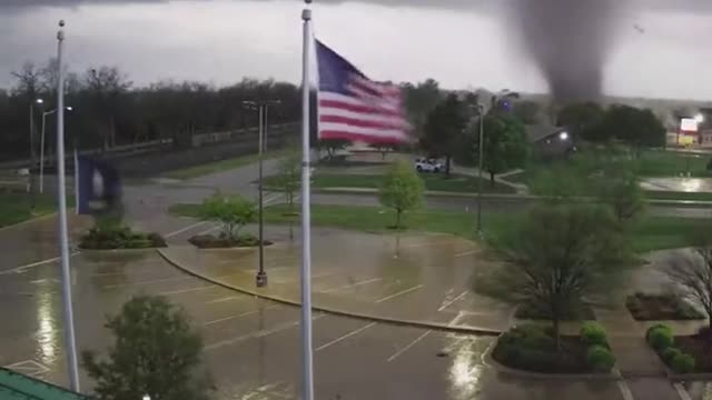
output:
[[[201,367],[202,341],[185,311],[162,297],[140,296],[123,304],[106,327],[115,343],[106,360],[82,352],[82,364],[101,400],[201,400],[212,390]]]

